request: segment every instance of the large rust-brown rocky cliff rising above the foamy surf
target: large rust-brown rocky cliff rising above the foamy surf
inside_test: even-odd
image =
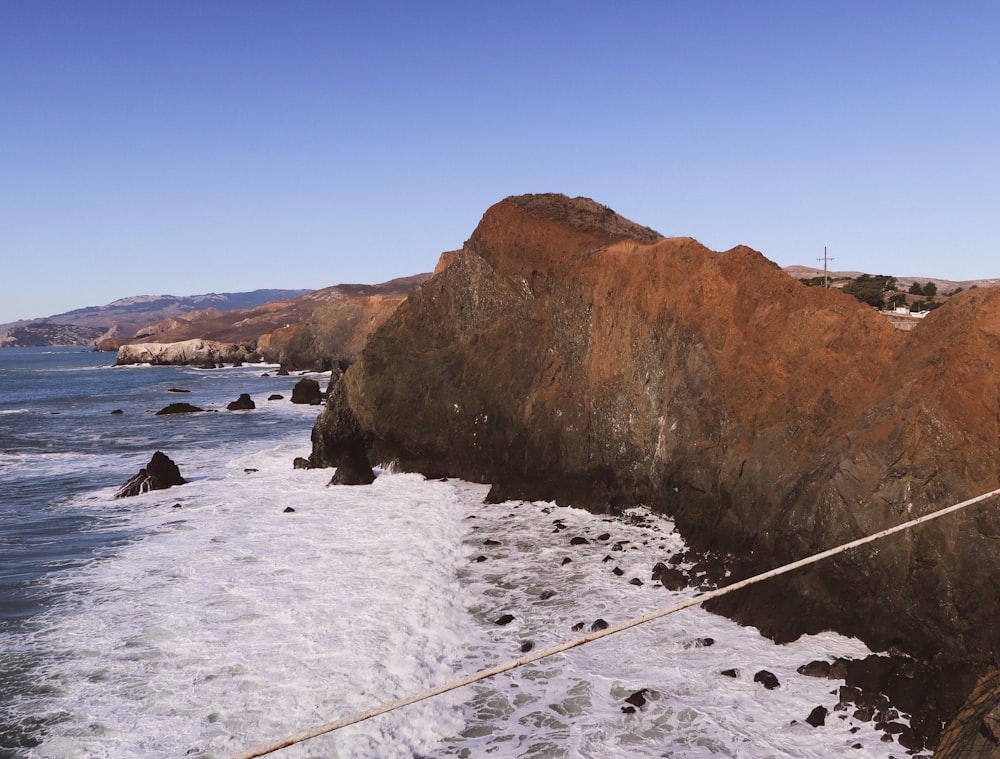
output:
[[[376,330],[313,462],[395,462],[494,499],[645,503],[750,573],[1000,482],[1000,291],[899,332],[745,247],[593,201],[508,198]],[[939,673],[957,708],[1000,646],[1000,505],[728,597],[775,638],[836,629]]]

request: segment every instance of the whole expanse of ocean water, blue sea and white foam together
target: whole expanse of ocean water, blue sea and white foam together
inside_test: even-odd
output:
[[[292,467],[318,411],[288,401],[298,376],[110,360],[0,351],[5,759],[224,759],[696,592],[651,581],[683,543],[643,510],[393,472],[328,487]],[[226,411],[243,392],[257,409]],[[209,412],[155,416],[180,400]],[[188,483],[115,500],[155,450]],[[834,710],[842,682],[796,672],[867,653],[692,608],[274,756],[901,757]]]

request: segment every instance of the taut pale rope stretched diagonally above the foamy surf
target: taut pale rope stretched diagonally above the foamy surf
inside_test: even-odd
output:
[[[509,672],[510,670],[517,669],[518,667],[523,667],[525,664],[531,664],[532,662],[539,661],[541,659],[546,659],[550,656],[555,656],[556,654],[561,654],[564,651],[569,651],[572,648],[578,646],[586,645],[587,643],[592,643],[595,640],[600,640],[601,638],[607,638],[610,635],[616,635],[617,633],[629,630],[633,627],[638,627],[639,625],[644,625],[653,620],[660,619],[661,617],[666,617],[670,614],[675,614],[684,609],[688,609],[692,606],[699,606],[706,601],[710,601],[713,598],[719,598],[720,596],[727,595],[729,593],[734,593],[737,590],[742,590],[743,588],[749,587],[751,585],[756,585],[764,580],[770,580],[772,577],[778,577],[779,575],[787,574],[801,567],[808,566],[810,564],[815,564],[816,562],[822,561],[823,559],[828,559],[831,556],[836,556],[839,553],[844,553],[852,548],[857,548],[858,546],[865,545],[866,543],[872,543],[876,540],[888,537],[896,532],[902,532],[903,530],[908,530],[911,527],[916,527],[924,522],[929,522],[932,519],[938,519],[952,512],[964,509],[967,506],[972,506],[973,504],[985,501],[988,498],[992,498],[995,495],[1000,495],[1000,488],[996,490],[991,490],[988,493],[983,493],[982,495],[976,496],[975,498],[970,498],[967,501],[962,501],[961,503],[954,504],[953,506],[948,506],[938,511],[931,512],[930,514],[925,514],[922,517],[917,517],[916,519],[911,519],[909,522],[903,522],[895,527],[889,527],[881,532],[876,532],[873,535],[868,535],[863,538],[858,538],[857,540],[852,540],[849,543],[843,543],[834,548],[827,549],[826,551],[821,551],[820,553],[812,554],[804,559],[799,559],[798,561],[793,561],[790,564],[785,564],[784,566],[778,567],[777,569],[771,569],[767,572],[763,572],[753,577],[748,577],[745,580],[740,580],[739,582],[734,582],[730,585],[726,585],[722,588],[716,588],[715,590],[707,591],[701,593],[697,596],[693,596],[686,601],[681,601],[680,603],[674,604],[673,606],[668,606],[657,611],[650,612],[641,617],[635,617],[626,622],[622,622],[611,627],[607,627],[603,630],[597,630],[591,632],[588,635],[584,635],[580,638],[575,638],[573,640],[566,641],[564,643],[559,643],[555,646],[550,646],[549,648],[544,648],[539,651],[535,651],[526,656],[522,656],[519,659],[511,659],[510,661],[497,664],[493,667],[487,669],[479,670],[478,672],[473,672],[472,674],[459,677],[455,680],[437,685],[433,688],[428,688],[422,690],[419,693],[413,693],[409,696],[397,699],[387,704],[382,704],[381,706],[376,706],[371,709],[367,709],[363,712],[357,712],[356,714],[343,717],[341,719],[335,720],[333,722],[328,722],[324,725],[318,725],[316,727],[303,730],[301,732],[295,733],[288,736],[282,740],[276,741],[274,743],[269,743],[266,746],[259,746],[258,748],[247,751],[243,754],[236,754],[230,759],[255,759],[255,757],[266,756],[267,754],[274,753],[283,748],[288,748],[289,746],[294,746],[297,743],[302,743],[311,738],[316,738],[320,735],[325,735],[327,733],[332,733],[335,730],[340,730],[341,728],[347,727],[349,725],[354,725],[359,722],[365,722],[373,717],[378,717],[382,714],[387,714],[388,712],[396,711],[404,706],[409,706],[410,704],[415,704],[420,701],[426,701],[429,698],[434,698],[435,696],[440,696],[443,693],[462,688],[466,685],[471,685],[472,683],[479,682],[480,680],[486,680],[487,678],[494,677],[503,672]]]

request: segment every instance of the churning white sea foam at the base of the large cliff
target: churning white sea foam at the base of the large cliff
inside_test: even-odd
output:
[[[62,575],[65,601],[21,642],[47,652],[53,689],[24,705],[55,722],[32,756],[226,757],[679,597],[649,581],[681,547],[665,520],[486,506],[482,486],[407,474],[328,488],[329,470],[291,469],[301,445],[241,447],[180,488],[88,499],[141,537]],[[841,683],[795,671],[865,653],[832,634],[776,646],[690,609],[276,756],[898,754],[832,711]],[[781,687],[755,683],[759,669]],[[623,713],[639,689],[648,703]],[[813,728],[817,705],[831,714]]]

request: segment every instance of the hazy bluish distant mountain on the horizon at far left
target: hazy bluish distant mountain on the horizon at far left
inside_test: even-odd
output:
[[[211,308],[226,312],[256,308],[275,300],[296,298],[310,292],[313,291],[266,289],[188,296],[135,295],[106,306],[78,308],[41,319],[0,324],[0,347],[92,345],[101,336],[132,337],[143,327],[193,311]]]

